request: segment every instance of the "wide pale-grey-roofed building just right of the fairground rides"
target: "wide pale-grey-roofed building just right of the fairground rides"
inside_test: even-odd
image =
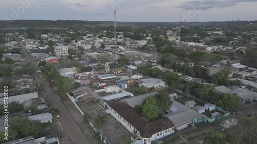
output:
[[[168,87],[167,83],[164,83],[164,81],[157,78],[145,78],[145,79],[137,80],[137,82],[140,87],[145,86],[146,88],[149,88],[149,89],[152,87],[154,87],[155,89]]]

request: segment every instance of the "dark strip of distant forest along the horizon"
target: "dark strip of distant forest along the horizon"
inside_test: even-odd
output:
[[[3,28],[81,28],[90,26],[112,27],[111,21],[84,21],[84,20],[0,20],[0,29]],[[218,28],[238,28],[244,30],[256,30],[257,20],[255,21],[229,21],[229,22],[117,22],[119,26],[137,27],[218,27]]]

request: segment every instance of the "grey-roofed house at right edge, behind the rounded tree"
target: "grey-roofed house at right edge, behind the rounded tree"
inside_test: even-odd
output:
[[[243,88],[237,88],[228,93],[236,93],[239,97],[241,97],[240,101],[243,103],[245,103],[246,101],[253,101],[253,99],[257,97],[256,92],[249,91]]]

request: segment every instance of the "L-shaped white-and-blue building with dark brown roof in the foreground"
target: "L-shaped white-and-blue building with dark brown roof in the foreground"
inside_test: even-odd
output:
[[[172,135],[174,124],[167,117],[159,117],[148,121],[132,107],[121,101],[107,104],[107,112],[112,114],[128,131],[136,132],[135,143],[150,144],[153,141]]]

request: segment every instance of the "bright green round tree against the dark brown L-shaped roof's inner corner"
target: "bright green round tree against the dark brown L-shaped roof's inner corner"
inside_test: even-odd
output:
[[[158,117],[158,107],[152,104],[145,104],[143,106],[142,115],[148,120],[155,119]]]

